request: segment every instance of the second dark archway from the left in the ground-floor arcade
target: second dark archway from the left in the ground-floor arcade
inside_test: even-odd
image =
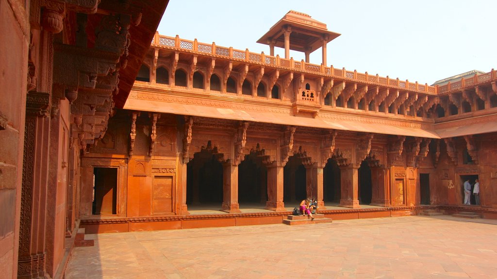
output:
[[[254,154],[245,156],[238,166],[239,203],[264,203],[267,201],[267,168]]]

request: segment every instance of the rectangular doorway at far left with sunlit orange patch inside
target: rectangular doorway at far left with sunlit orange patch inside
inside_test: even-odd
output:
[[[93,168],[93,204],[91,214],[116,214],[117,168]]]

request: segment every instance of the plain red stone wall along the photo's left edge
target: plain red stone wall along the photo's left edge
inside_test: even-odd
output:
[[[0,274],[17,277],[29,25],[25,1],[0,0]]]

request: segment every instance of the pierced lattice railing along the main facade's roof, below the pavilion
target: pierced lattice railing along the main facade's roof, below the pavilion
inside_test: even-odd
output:
[[[409,80],[400,80],[399,78],[390,78],[379,76],[378,74],[371,75],[368,72],[360,73],[356,70],[350,71],[345,70],[345,68],[335,69],[333,66],[326,67],[324,65],[315,65],[301,61],[294,61],[293,58],[284,59],[280,58],[279,55],[269,56],[262,53],[249,52],[248,49],[237,50],[232,47],[221,47],[217,46],[215,43],[205,44],[199,43],[197,39],[190,41],[176,37],[167,37],[156,33],[152,46],[164,46],[177,48],[182,50],[188,50],[193,52],[211,54],[215,56],[226,57],[235,60],[243,60],[250,63],[262,64],[267,66],[273,66],[277,68],[287,68],[292,70],[298,70],[303,72],[312,72],[315,74],[322,74],[330,77],[335,77],[343,80],[357,81],[362,83],[369,83],[375,85],[384,85],[386,87],[397,87],[399,89],[410,90],[422,92],[428,95],[436,95],[436,86],[428,86],[427,83],[419,84],[416,82],[410,82]]]

